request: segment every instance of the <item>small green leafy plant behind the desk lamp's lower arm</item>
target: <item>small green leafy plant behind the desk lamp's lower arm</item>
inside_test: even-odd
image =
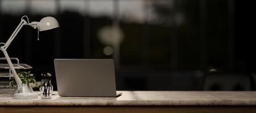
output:
[[[19,79],[22,80],[22,84],[30,85],[30,83],[36,82],[35,77],[30,74],[30,71],[29,72],[20,72],[20,73],[18,73],[18,76],[19,76]],[[12,86],[16,86],[16,81],[15,81],[14,77],[12,77],[10,79],[10,81],[11,81]]]

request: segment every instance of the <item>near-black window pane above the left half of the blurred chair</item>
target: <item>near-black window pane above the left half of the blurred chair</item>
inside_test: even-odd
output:
[[[229,12],[228,1],[207,1],[208,66],[228,68],[229,60]],[[218,6],[218,8],[216,8]]]

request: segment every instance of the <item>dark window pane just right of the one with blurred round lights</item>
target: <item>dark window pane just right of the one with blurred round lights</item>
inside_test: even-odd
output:
[[[120,27],[124,33],[120,46],[120,63],[123,67],[142,66],[142,37],[147,20],[145,3],[146,1],[119,1]]]

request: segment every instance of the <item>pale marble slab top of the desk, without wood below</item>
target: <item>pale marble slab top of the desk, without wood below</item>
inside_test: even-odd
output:
[[[12,99],[0,90],[0,106],[255,106],[256,92],[117,91],[120,97]],[[39,92],[37,92],[39,93]]]

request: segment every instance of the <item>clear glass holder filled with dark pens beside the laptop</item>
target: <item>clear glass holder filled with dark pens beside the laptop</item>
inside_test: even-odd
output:
[[[42,99],[52,98],[53,86],[50,79],[42,79],[40,92]]]

